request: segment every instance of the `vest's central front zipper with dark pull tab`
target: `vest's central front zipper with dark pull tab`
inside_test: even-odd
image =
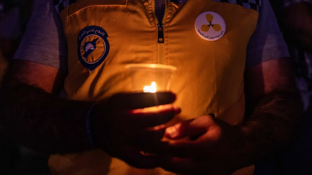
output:
[[[157,55],[158,55],[158,64],[163,64],[163,24],[165,22],[165,18],[167,16],[168,11],[168,0],[165,1],[165,12],[163,14],[163,20],[159,23],[157,16],[156,16],[156,0],[153,0],[154,4],[154,19],[157,25]]]

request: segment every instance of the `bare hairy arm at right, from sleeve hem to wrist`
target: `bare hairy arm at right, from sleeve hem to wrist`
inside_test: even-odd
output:
[[[240,127],[246,165],[283,148],[298,133],[303,107],[291,70],[287,58],[246,70],[246,104],[250,105]]]

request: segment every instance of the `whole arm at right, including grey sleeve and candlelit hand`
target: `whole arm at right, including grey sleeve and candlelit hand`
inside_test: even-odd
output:
[[[272,8],[263,0],[247,48],[245,121],[232,126],[208,115],[167,128],[165,136],[171,140],[163,147],[168,157],[162,167],[178,173],[230,174],[290,143],[303,110],[287,57]]]

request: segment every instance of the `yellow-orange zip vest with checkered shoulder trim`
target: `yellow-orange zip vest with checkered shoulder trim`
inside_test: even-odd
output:
[[[154,0],[67,0],[56,4],[68,42],[68,98],[97,101],[128,91],[126,64],[173,65],[177,71],[170,89],[178,95],[175,105],[182,113],[172,124],[209,113],[231,125],[241,123],[246,48],[256,28],[255,9],[259,6],[216,1],[166,2],[163,43],[158,43]],[[195,31],[197,16],[207,11],[221,15],[226,23],[219,40],[204,40]],[[57,175],[173,174],[161,168],[130,167],[102,150],[52,155],[49,166]],[[238,174],[252,173],[244,170]]]

